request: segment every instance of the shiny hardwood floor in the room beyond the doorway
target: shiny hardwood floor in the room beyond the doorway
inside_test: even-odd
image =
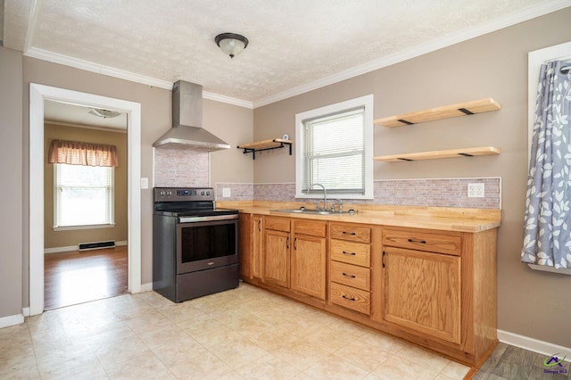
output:
[[[45,256],[45,310],[124,293],[128,293],[127,246]]]

